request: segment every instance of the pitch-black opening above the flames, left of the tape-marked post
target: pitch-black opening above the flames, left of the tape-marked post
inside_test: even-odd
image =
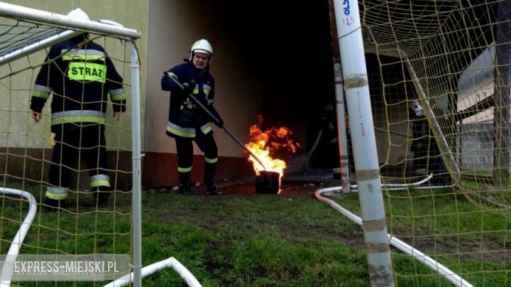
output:
[[[324,104],[335,101],[328,1],[217,1],[214,9],[260,82],[264,123],[289,126],[305,153]],[[322,167],[327,156],[318,149],[312,163]]]

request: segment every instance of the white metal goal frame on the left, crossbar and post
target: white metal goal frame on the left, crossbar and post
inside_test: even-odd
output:
[[[48,48],[50,45],[77,36],[84,31],[121,38],[129,45],[131,53],[131,141],[132,141],[132,179],[133,179],[133,285],[141,286],[142,269],[142,237],[141,237],[141,97],[140,97],[140,63],[134,40],[141,38],[141,33],[135,29],[125,28],[121,24],[109,20],[84,21],[70,18],[57,13],[31,9],[13,4],[0,2],[0,16],[15,20],[41,23],[55,28],[62,28],[49,38],[38,40],[23,48],[17,49],[0,57],[0,65],[22,58],[35,51]]]

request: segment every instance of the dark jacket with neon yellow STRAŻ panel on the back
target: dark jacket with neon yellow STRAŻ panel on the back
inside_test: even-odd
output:
[[[82,123],[104,124],[108,94],[114,112],[126,111],[123,79],[114,63],[97,43],[79,46],[84,39],[77,36],[53,45],[35,79],[31,109],[41,112],[53,92],[53,132],[60,124],[65,129],[77,129]]]

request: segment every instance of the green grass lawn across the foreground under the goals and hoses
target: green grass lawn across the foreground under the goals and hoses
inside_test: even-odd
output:
[[[39,200],[40,188],[23,188]],[[72,212],[38,212],[21,249],[24,254],[52,254],[56,249],[129,254],[131,195],[117,195],[115,211],[111,200],[99,212],[89,206],[88,195],[79,196],[84,205],[72,207]],[[453,190],[411,189],[389,192],[384,199],[390,233],[475,286],[509,284],[507,210],[474,205]],[[0,251],[6,254],[27,204],[13,197],[2,201]],[[356,193],[336,202],[359,213]],[[361,228],[311,196],[143,193],[142,230],[143,266],[173,256],[203,286],[369,285]],[[451,286],[397,249],[392,249],[392,261],[397,286]],[[172,269],[164,269],[144,278],[143,285],[184,282]]]

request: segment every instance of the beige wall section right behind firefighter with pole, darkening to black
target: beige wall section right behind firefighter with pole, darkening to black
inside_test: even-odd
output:
[[[183,63],[195,40],[213,45],[211,74],[215,78],[215,107],[226,127],[242,142],[262,110],[260,87],[247,75],[246,63],[236,43],[226,34],[222,16],[211,1],[149,1],[148,80],[145,151],[175,153],[174,141],[165,135],[169,93],[161,90],[163,72]],[[219,156],[245,157],[229,136],[214,127]],[[199,153],[195,146],[194,153]]]

